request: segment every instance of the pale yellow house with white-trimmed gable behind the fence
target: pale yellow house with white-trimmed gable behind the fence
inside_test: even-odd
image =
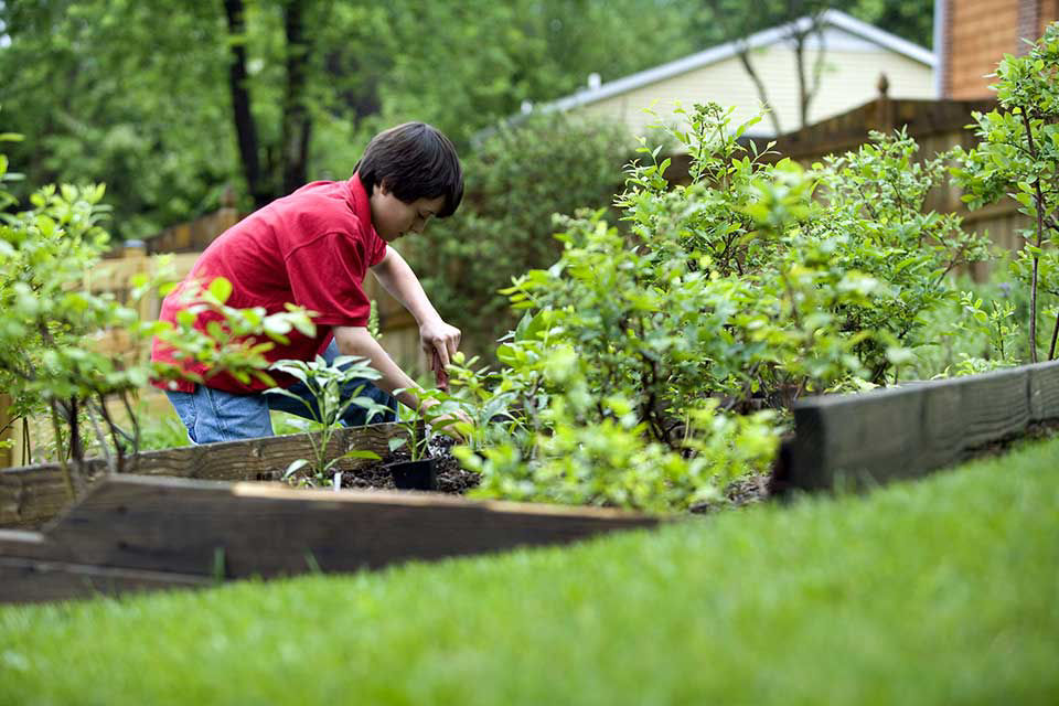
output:
[[[820,90],[810,104],[807,124],[871,100],[882,74],[894,96],[937,96],[934,55],[928,50],[837,10],[824,12],[821,25],[822,31],[813,32],[805,46],[809,68],[823,52]],[[590,78],[587,88],[542,109],[617,119],[625,122],[635,135],[646,135],[648,126],[655,121],[644,113],[645,108],[654,105],[663,120],[668,117],[675,121],[673,108],[677,101],[688,108],[692,104],[710,100],[734,106],[734,119],[744,121],[756,115],[761,106],[760,94],[739,58],[740,50],[746,47],[779,119],[779,131],[796,130],[801,127],[799,81],[790,36],[792,30],[804,31],[810,26],[810,18],[802,18],[624,78],[603,84],[598,78]],[[755,137],[775,133],[769,119],[747,132]]]

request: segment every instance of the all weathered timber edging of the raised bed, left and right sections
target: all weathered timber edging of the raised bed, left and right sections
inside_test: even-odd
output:
[[[1056,420],[1059,362],[811,398],[794,409],[794,438],[783,446],[775,482],[816,490],[921,475]],[[346,429],[331,452],[382,454],[399,432],[395,425]],[[145,453],[128,475],[106,474],[97,462],[95,482],[72,507],[57,468],[0,471],[0,526],[22,527],[0,530],[0,601],[354,571],[661,521],[592,507],[231,482],[275,478],[310,452],[308,436],[297,435]]]

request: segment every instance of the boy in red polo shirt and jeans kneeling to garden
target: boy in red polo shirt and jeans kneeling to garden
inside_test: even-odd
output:
[[[357,381],[346,394],[364,385],[362,395],[392,410],[396,402],[417,409],[417,385],[367,331],[371,303],[364,295],[364,276],[371,267],[383,287],[416,318],[427,360],[447,365],[459,347],[460,331],[441,320],[411,268],[388,244],[422,233],[432,217],[452,215],[462,197],[462,169],[445,135],[422,122],[391,128],[372,139],[349,181],[307,184],[228,228],[165,297],[159,319],[175,320],[186,306],[180,292],[190,282],[207,286],[223,276],[232,282],[226,302],[231,307],[265,307],[275,313],[292,302],[317,312],[315,338],[291,331],[289,344],[277,343],[266,353],[268,360],[311,361],[317,354],[329,362],[338,355],[365,357],[382,377],[374,384]],[[207,319],[208,314],[200,314],[195,327],[205,330]],[[151,360],[178,363],[158,339]],[[289,397],[265,394],[267,386],[259,381],[243,384],[223,373],[206,377],[204,365],[180,364],[205,382],[154,384],[165,391],[195,443],[271,436],[270,408],[307,414]],[[309,399],[301,383],[275,377],[277,384]],[[398,388],[403,392],[394,397]],[[364,410],[354,405],[343,422],[364,424]]]

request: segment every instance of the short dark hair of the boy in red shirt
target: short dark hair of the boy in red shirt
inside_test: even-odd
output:
[[[463,199],[463,169],[456,147],[425,122],[405,122],[379,132],[354,169],[368,196],[383,182],[405,203],[443,196],[439,218],[456,213]]]

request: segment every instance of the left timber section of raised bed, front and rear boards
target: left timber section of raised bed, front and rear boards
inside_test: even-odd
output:
[[[399,434],[397,425],[344,429],[330,451],[385,456]],[[309,436],[293,435],[147,452],[130,459],[135,474],[108,474],[93,461],[76,503],[55,466],[2,470],[0,601],[355,571],[659,523],[595,507],[260,482],[310,454]],[[365,463],[351,459],[343,468]]]

